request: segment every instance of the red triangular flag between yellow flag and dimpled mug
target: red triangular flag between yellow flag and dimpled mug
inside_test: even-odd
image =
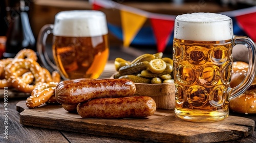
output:
[[[174,28],[174,20],[151,18],[151,24],[157,40],[157,51],[163,52]]]

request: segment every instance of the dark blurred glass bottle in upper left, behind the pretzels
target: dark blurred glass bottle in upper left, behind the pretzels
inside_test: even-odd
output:
[[[16,6],[10,8],[10,22],[6,34],[6,50],[3,53],[4,58],[13,58],[22,49],[35,50],[35,37],[32,33],[28,7],[25,1],[20,0]]]

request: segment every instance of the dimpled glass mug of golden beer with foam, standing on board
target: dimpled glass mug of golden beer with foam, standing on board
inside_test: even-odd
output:
[[[173,41],[175,113],[187,121],[218,121],[229,113],[229,101],[246,91],[255,73],[255,45],[233,35],[232,19],[215,13],[192,13],[175,19]],[[249,69],[237,87],[229,86],[232,47],[247,46]]]

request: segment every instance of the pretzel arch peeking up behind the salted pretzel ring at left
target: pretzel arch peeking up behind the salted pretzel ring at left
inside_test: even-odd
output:
[[[36,53],[31,49],[20,50],[14,58],[15,59],[32,59],[34,61],[37,61]]]

